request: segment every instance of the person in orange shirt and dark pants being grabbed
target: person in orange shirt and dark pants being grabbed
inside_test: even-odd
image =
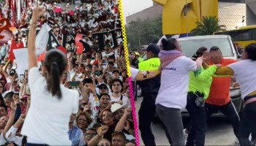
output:
[[[220,64],[222,66],[228,66],[237,62],[230,58],[223,58],[222,51],[219,47],[211,47],[210,53],[214,54],[211,56],[211,61],[208,65]],[[230,83],[231,77],[226,76],[213,76],[208,99],[206,100],[206,119],[209,119],[214,112],[222,112],[230,123],[232,123],[233,131],[238,138],[238,127],[240,118],[236,108],[230,98]]]

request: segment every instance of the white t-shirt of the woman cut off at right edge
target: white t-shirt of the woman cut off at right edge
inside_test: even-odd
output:
[[[256,61],[246,59],[228,66],[235,73],[236,81],[240,85],[242,99],[249,93],[256,91]]]

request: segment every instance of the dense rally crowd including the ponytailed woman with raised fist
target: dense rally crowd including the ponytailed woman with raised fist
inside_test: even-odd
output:
[[[121,27],[118,1],[86,1],[75,9],[56,2],[29,3],[15,23],[18,33],[0,46],[0,145],[136,145],[124,46],[121,40],[113,46],[109,35],[100,50],[91,36]],[[86,35],[91,50],[78,53],[75,38],[68,37],[67,54],[48,46],[45,58],[35,62],[33,33],[43,23],[59,44],[61,34]],[[12,43],[28,47],[23,76],[9,60]]]

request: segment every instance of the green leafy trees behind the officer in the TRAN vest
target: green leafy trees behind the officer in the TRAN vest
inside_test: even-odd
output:
[[[136,20],[126,26],[129,50],[138,50],[140,45],[157,43],[162,37],[162,18]]]

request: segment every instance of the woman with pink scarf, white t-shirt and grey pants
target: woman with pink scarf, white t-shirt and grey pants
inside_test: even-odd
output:
[[[167,128],[170,145],[185,145],[181,110],[187,105],[189,72],[202,66],[202,58],[192,61],[176,39],[162,39],[161,86],[156,99],[157,115]]]

